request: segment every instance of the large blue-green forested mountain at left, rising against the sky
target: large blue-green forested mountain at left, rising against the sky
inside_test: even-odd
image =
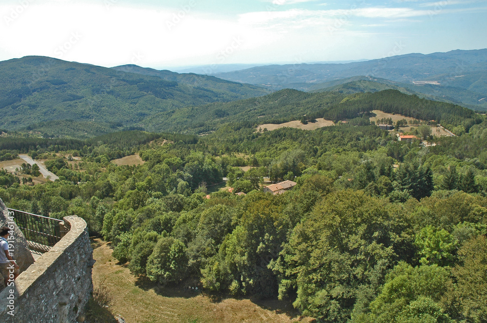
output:
[[[269,93],[195,74],[165,80],[40,56],[0,62],[0,75],[0,128],[7,130],[68,119],[116,130],[166,110]]]

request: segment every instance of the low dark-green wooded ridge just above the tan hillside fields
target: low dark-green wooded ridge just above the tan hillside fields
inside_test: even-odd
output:
[[[146,119],[154,129],[163,131],[205,133],[218,129],[225,122],[282,123],[324,118],[333,121],[355,119],[372,110],[397,113],[421,120],[435,120],[469,128],[476,121],[472,110],[459,105],[421,99],[397,90],[346,95],[338,92],[306,93],[284,89],[263,97],[234,102],[211,103],[165,111]]]

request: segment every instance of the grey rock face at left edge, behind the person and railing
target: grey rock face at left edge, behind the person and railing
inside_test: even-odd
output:
[[[29,268],[30,265],[34,263],[34,257],[32,256],[29,246],[27,245],[27,240],[25,239],[24,235],[20,231],[17,224],[15,224],[11,219],[9,219],[9,212],[3,201],[0,199],[0,227],[2,226],[13,226],[14,231],[14,242],[12,243],[14,246],[13,254],[14,259],[17,260],[17,264],[20,267],[20,272],[25,271]],[[3,283],[0,282],[0,288],[3,286]]]

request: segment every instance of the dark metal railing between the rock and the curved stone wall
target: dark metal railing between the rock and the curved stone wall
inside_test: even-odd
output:
[[[44,254],[48,252],[68,232],[64,222],[24,211],[14,210],[14,221],[24,234],[31,251]]]

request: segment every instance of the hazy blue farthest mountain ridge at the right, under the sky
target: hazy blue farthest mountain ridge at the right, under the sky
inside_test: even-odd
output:
[[[268,65],[215,76],[270,89],[302,91],[340,91],[332,87],[359,81],[356,79],[359,77],[360,81],[369,82],[346,85],[348,88],[344,91],[402,88],[422,97],[487,110],[487,49],[428,55],[414,53],[348,64]]]

